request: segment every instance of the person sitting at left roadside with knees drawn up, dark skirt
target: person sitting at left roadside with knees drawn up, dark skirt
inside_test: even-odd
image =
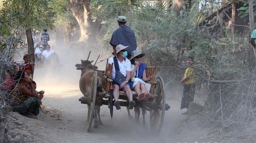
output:
[[[34,117],[39,114],[41,101],[37,100],[32,80],[27,72],[18,71],[16,75],[17,85],[12,92],[12,108],[25,116]]]

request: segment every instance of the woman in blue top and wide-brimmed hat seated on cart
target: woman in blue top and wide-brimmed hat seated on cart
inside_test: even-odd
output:
[[[150,98],[150,93],[146,90],[144,81],[148,81],[153,78],[153,75],[146,77],[146,65],[141,62],[141,58],[144,55],[145,53],[140,53],[139,51],[134,50],[130,58],[132,64],[131,79],[132,82],[134,82],[133,88],[139,95],[138,101],[147,101],[147,99]]]

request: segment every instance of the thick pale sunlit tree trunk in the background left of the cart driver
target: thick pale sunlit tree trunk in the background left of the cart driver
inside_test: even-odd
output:
[[[70,2],[70,10],[80,26],[81,36],[79,41],[96,41],[98,28],[102,20],[97,18],[93,22],[90,1],[70,0]]]

